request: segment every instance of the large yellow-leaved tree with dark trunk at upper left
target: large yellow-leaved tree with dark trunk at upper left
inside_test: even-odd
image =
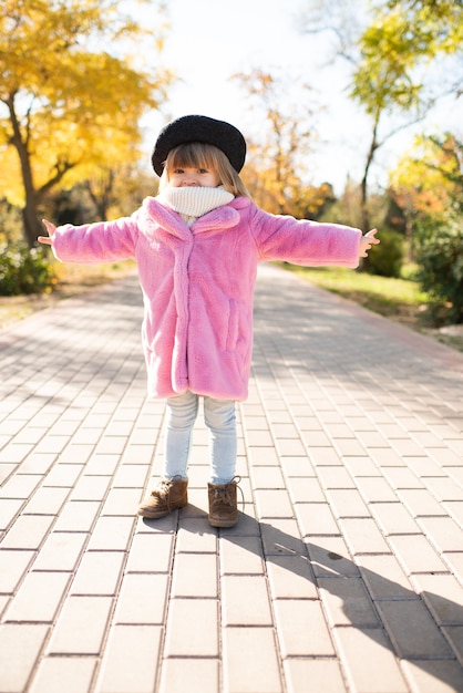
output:
[[[169,76],[94,46],[96,37],[109,45],[137,32],[106,1],[3,0],[0,153],[3,170],[11,164],[21,182],[3,189],[21,199],[29,246],[41,231],[45,195],[64,177],[72,185],[95,165],[136,156],[140,117],[157,107]]]

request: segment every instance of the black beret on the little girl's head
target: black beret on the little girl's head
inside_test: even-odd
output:
[[[244,166],[246,141],[239,130],[225,121],[216,121],[206,115],[184,115],[166,125],[156,139],[151,161],[158,176],[163,173],[171,149],[187,142],[215,145],[224,152],[237,173]]]

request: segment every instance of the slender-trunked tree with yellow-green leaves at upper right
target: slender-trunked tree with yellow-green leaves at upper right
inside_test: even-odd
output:
[[[337,54],[352,65],[350,96],[371,117],[372,130],[367,149],[361,182],[363,220],[370,227],[368,209],[368,179],[378,149],[400,130],[416,123],[444,93],[461,95],[460,72],[449,70],[453,80],[444,80],[445,61],[433,75],[438,58],[454,58],[463,46],[463,7],[454,0],[387,0],[372,6],[371,15],[364,14],[363,29],[352,34],[351,22],[346,22],[344,0],[323,3],[322,12],[310,31],[331,31],[337,38]],[[351,12],[351,3],[349,3]],[[313,19],[313,18],[312,18]],[[347,31],[349,33],[347,34]],[[445,82],[445,86],[442,84]],[[393,121],[397,118],[398,121]],[[384,121],[387,125],[384,126]]]

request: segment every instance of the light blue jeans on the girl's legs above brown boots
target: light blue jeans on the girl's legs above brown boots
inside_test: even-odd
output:
[[[167,399],[163,476],[186,478],[193,426],[199,397],[193,392]],[[210,482],[228,484],[235,476],[237,435],[235,402],[204,397],[204,422],[209,430]]]

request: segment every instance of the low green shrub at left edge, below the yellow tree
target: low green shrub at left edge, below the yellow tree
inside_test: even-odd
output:
[[[45,248],[25,244],[0,247],[0,296],[51,291],[56,283],[53,257]]]

